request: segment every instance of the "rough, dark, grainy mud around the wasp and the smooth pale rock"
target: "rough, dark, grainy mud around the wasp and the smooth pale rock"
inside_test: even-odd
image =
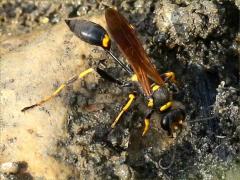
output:
[[[70,168],[64,177],[239,179],[239,4],[231,0],[128,0],[114,1],[113,4],[110,1],[73,1],[54,5],[2,1],[1,39],[41,28],[54,28],[66,17],[104,14],[108,5],[114,5],[139,32],[144,48],[159,72],[176,73],[180,92],[174,99],[185,104],[188,124],[177,139],[166,135],[157,118],[151,121],[146,137],[141,136],[146,109],[141,96],[117,127],[110,129],[128,93],[134,88],[96,80],[99,78],[96,76],[81,81],[78,89],[66,92],[62,97],[66,107],[61,126],[64,136],[58,136],[54,150],[47,153],[54,163]],[[78,44],[71,47],[76,46]],[[105,59],[109,73],[127,80],[127,73],[110,57],[96,47],[92,49],[94,51],[83,49],[88,50],[86,57],[81,57],[84,64],[95,66],[99,59]],[[112,49],[123,59],[114,44]],[[1,50],[5,55],[9,53],[9,49]],[[76,49],[74,52],[77,53]],[[71,53],[67,51],[65,57]],[[170,163],[174,150],[173,165],[162,169],[160,165]],[[2,152],[4,154],[4,150]],[[1,175],[6,179],[19,177],[18,174]],[[41,177],[49,179],[44,174]]]

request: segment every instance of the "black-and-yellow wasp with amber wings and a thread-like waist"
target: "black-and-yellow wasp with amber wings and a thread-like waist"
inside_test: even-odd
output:
[[[167,87],[167,83],[169,82],[176,84],[175,74],[173,72],[167,72],[162,75],[158,73],[138,39],[133,26],[128,23],[125,17],[117,10],[108,8],[105,11],[105,19],[112,39],[116,42],[131,68],[114,56],[111,51],[111,38],[102,26],[86,20],[75,19],[65,20],[65,22],[70,30],[81,40],[102,47],[111,55],[113,60],[130,75],[132,82],[139,83],[142,95],[144,96],[148,107],[144,119],[142,136],[144,136],[149,130],[152,114],[157,113],[159,114],[159,117],[161,117],[159,123],[161,124],[162,129],[165,130],[169,136],[175,137],[176,133],[182,130],[183,122],[185,121],[184,105],[172,99],[171,91]],[[95,69],[89,68],[60,85],[52,95],[47,96],[36,104],[23,108],[22,111],[42,105],[58,95],[68,84],[73,83],[77,79],[83,78],[91,72],[97,72],[105,79],[122,84],[122,82],[99,67]],[[129,94],[127,103],[116,116],[111,128],[115,128],[123,114],[131,108],[137,98],[137,93],[133,92]]]

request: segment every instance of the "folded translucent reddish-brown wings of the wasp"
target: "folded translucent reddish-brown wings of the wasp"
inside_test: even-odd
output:
[[[148,77],[158,85],[164,85],[164,81],[150,62],[136,32],[127,20],[111,8],[106,10],[105,18],[110,34],[133,68],[146,95],[151,94]]]

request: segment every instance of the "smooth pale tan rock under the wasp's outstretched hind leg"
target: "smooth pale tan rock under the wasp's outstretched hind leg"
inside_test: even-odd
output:
[[[102,16],[88,18],[104,24]],[[64,96],[25,113],[21,109],[51,94],[88,67],[82,55],[93,47],[74,36],[64,22],[29,35],[0,40],[0,163],[25,161],[33,177],[66,179],[74,170],[51,157],[64,137]],[[96,81],[95,75],[85,79]],[[75,83],[78,88],[80,83]],[[63,90],[62,94],[68,93]]]

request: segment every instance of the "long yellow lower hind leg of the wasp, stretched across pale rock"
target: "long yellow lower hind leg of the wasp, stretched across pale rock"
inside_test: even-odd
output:
[[[26,111],[26,110],[28,110],[28,109],[31,109],[31,108],[34,108],[34,107],[36,107],[36,106],[42,105],[43,103],[45,103],[45,102],[49,101],[50,99],[54,98],[55,96],[57,96],[67,85],[75,82],[75,81],[78,80],[78,79],[83,78],[84,76],[86,76],[87,74],[89,74],[89,73],[91,73],[91,72],[93,72],[93,71],[94,71],[93,68],[89,68],[89,69],[81,72],[78,76],[74,76],[74,77],[72,77],[71,79],[69,79],[67,82],[61,84],[61,85],[59,86],[59,88],[57,88],[57,90],[54,91],[50,96],[47,96],[47,97],[43,98],[41,101],[37,102],[36,104],[33,104],[33,105],[31,105],[31,106],[24,107],[21,111],[24,112],[24,111]]]

